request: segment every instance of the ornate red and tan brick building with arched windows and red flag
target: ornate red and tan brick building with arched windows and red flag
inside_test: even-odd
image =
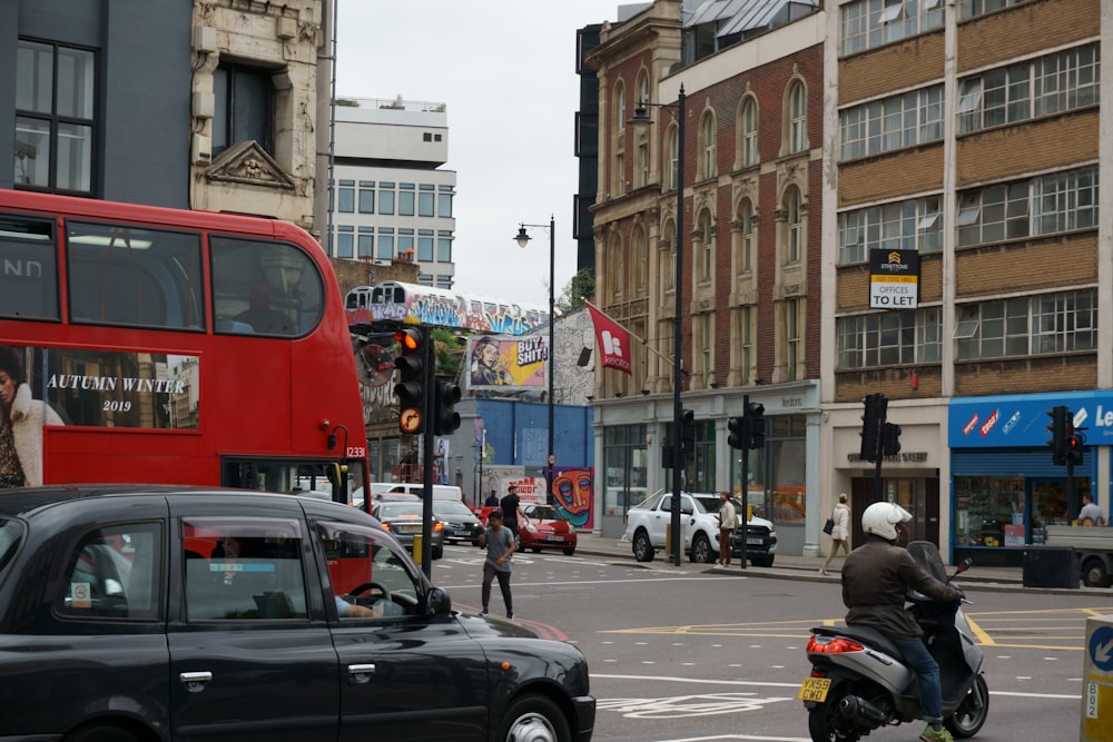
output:
[[[814,553],[804,514],[821,474],[810,462],[821,414],[824,14],[816,3],[762,3],[777,12],[755,21],[733,4],[737,17],[716,14],[729,3],[688,4],[658,0],[604,24],[588,55],[600,95],[597,303],[637,336],[631,375],[597,370],[597,523],[621,533],[630,505],[670,486],[661,444],[679,314],[682,404],[697,422],[684,487],[741,488],[727,423],[748,396],[765,406],[769,434],[750,452],[750,502],[777,517],[784,551]],[[642,100],[654,120],[643,133],[629,125]]]

